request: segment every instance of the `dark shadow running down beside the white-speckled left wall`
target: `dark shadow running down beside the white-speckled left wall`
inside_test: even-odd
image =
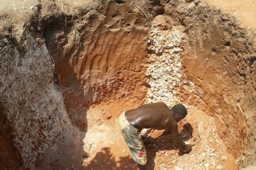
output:
[[[82,80],[77,76],[76,59],[81,55],[81,50],[76,43],[70,43],[68,35],[72,33],[70,24],[63,25],[65,17],[50,17],[48,29],[43,32],[46,39],[46,47],[53,59],[55,66],[55,87],[62,92],[65,109],[68,113],[72,125],[81,132],[86,132],[88,120],[86,119],[88,107],[93,102],[92,92],[84,92]],[[64,47],[69,50],[64,50]],[[75,56],[72,60],[72,57]],[[71,62],[72,61],[72,62]],[[72,131],[74,129],[70,129]],[[46,163],[37,162],[38,169],[79,169],[83,160],[83,155],[88,155],[83,150],[83,139],[85,133],[66,132],[55,141],[53,149],[49,153],[43,154],[39,160],[47,160]],[[82,151],[81,151],[82,150]],[[50,158],[49,158],[50,157]]]

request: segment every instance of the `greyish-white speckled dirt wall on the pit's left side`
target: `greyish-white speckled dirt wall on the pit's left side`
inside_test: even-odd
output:
[[[61,164],[69,167],[61,157],[77,153],[53,150],[64,146],[82,149],[81,143],[75,140],[82,134],[72,126],[62,94],[54,83],[53,60],[44,38],[33,27],[16,25],[13,30],[13,37],[4,38],[1,51],[1,106],[4,108],[1,115],[6,116],[1,116],[4,132],[1,143],[6,148],[1,167],[47,169],[51,162],[55,162],[53,167],[62,167]],[[52,151],[50,155],[48,150]],[[78,153],[80,159],[83,153]],[[39,161],[41,157],[45,158],[43,163]]]

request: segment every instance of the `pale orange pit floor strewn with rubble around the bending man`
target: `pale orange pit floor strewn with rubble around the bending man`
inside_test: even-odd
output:
[[[116,118],[123,111],[139,106],[136,102],[100,104],[87,113],[88,131],[83,139],[85,157],[81,169],[138,169],[130,150],[119,132]],[[180,139],[195,146],[188,154],[173,147],[170,132],[164,129],[143,129],[154,143],[146,146],[147,169],[237,169],[236,159],[227,153],[217,134],[214,119],[193,106],[179,123]]]

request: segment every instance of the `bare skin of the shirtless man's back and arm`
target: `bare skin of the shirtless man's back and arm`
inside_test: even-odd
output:
[[[143,111],[145,110],[145,111]],[[182,120],[182,115],[175,114],[170,111],[170,113],[166,114],[161,112],[161,108],[159,112],[151,113],[150,112],[150,104],[140,106],[130,111],[126,111],[126,119],[130,122],[130,125],[133,125],[136,129],[140,131],[144,128],[149,129],[169,129],[172,136],[173,145],[181,150],[184,150],[184,153],[187,153],[191,150],[193,145],[186,145],[179,141],[178,139],[178,126],[177,122]],[[146,169],[146,165],[138,164],[140,170]]]

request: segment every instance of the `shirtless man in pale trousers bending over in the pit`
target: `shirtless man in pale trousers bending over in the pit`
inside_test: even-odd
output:
[[[182,104],[176,104],[170,109],[161,101],[155,104],[145,104],[119,115],[118,122],[121,133],[140,170],[146,169],[147,164],[144,144],[153,142],[149,138],[142,139],[140,132],[144,128],[169,129],[175,147],[184,153],[191,150],[193,145],[186,145],[178,139],[177,122],[185,118],[186,115],[187,109]]]

